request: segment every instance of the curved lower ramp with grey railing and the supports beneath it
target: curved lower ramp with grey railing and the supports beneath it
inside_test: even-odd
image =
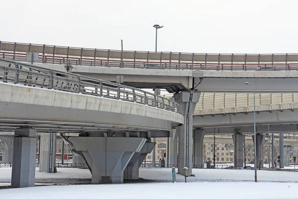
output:
[[[13,188],[34,186],[37,132],[49,147],[41,151],[41,168],[54,172],[50,151],[61,133],[88,164],[92,183],[123,183],[124,174],[139,176],[139,166],[155,146],[150,138],[169,137],[183,122],[182,107],[172,100],[0,59],[0,129],[14,131]]]

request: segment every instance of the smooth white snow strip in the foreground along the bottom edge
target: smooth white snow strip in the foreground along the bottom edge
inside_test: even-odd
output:
[[[151,183],[0,190],[3,199],[297,199],[295,183]]]

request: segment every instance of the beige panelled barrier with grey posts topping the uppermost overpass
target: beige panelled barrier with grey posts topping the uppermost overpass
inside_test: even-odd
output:
[[[65,55],[89,58],[119,59],[119,60],[159,60],[160,62],[297,62],[297,53],[284,54],[221,54],[221,53],[181,53],[181,52],[149,52],[149,51],[121,51],[109,49],[78,48],[70,46],[56,46],[46,44],[31,44],[0,41],[0,51],[10,52],[39,52],[42,55]]]

